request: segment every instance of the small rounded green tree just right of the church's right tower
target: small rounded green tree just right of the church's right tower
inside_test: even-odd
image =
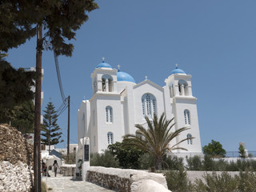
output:
[[[226,154],[226,150],[222,148],[222,144],[214,140],[211,140],[208,146],[203,146],[202,151],[204,154],[212,155],[213,157],[224,157]]]

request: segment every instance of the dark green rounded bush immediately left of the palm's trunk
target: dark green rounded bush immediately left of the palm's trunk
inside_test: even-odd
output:
[[[138,158],[143,154],[143,151],[134,146],[123,146],[122,144],[122,142],[115,142],[108,146],[108,150],[123,169],[139,169]]]

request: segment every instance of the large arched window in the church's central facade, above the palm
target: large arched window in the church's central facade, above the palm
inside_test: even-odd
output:
[[[142,114],[153,118],[153,114],[157,114],[156,99],[152,94],[143,94],[142,96]]]

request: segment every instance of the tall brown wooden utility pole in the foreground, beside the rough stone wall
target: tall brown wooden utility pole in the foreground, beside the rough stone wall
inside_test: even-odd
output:
[[[34,191],[41,192],[41,87],[42,87],[42,24],[37,26],[36,80],[34,97]]]

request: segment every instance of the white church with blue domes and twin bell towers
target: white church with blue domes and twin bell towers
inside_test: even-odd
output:
[[[92,97],[82,100],[78,110],[78,142],[81,138],[90,138],[90,153],[101,152],[109,144],[122,142],[125,134],[135,134],[135,124],[146,126],[146,115],[152,118],[154,114],[165,113],[166,119],[174,117],[175,129],[190,128],[173,142],[194,138],[179,145],[187,151],[173,152],[182,156],[202,154],[197,98],[192,94],[191,75],[184,70],[176,66],[162,87],[147,78],[136,83],[130,74],[103,61],[91,74],[91,81]]]

